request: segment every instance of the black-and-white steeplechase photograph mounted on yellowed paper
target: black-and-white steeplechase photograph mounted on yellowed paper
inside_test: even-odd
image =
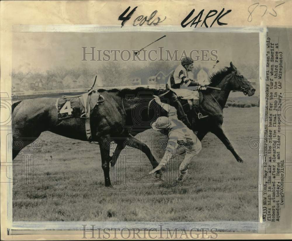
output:
[[[258,222],[258,33],[11,44],[13,221]]]

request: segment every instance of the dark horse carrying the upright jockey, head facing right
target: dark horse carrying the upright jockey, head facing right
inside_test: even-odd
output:
[[[243,160],[236,153],[222,129],[223,108],[225,107],[230,91],[241,91],[245,95],[252,96],[256,90],[251,83],[239,73],[232,62],[230,62],[230,67],[225,67],[212,76],[209,87],[210,88],[207,90],[200,91],[201,112],[204,115],[208,115],[208,117],[197,119],[196,122],[191,121],[191,123],[195,123],[195,126],[192,126],[193,130],[197,131],[199,140],[202,140],[208,132],[215,134],[224,143],[227,149],[232,152],[236,160],[242,163]],[[171,92],[166,93],[166,91],[161,92],[161,90],[155,89],[149,91],[155,95],[164,93],[163,98],[166,99],[172,98],[173,96]],[[128,94],[133,94],[134,96],[138,93],[138,90],[128,91]],[[191,120],[191,118],[194,117],[188,115],[188,118]],[[138,133],[138,131],[134,129],[132,133]],[[114,155],[118,156],[123,148],[123,143],[118,142]],[[115,160],[116,158],[114,158],[112,165],[115,164]]]

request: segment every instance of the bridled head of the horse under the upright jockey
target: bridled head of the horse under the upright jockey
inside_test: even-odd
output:
[[[252,96],[256,89],[253,88],[251,82],[248,81],[237,68],[230,62],[230,70],[232,79],[230,81],[230,89],[233,91],[242,91],[245,95]]]

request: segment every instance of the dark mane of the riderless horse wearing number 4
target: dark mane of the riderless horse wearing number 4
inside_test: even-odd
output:
[[[159,94],[163,94],[164,92],[166,92],[165,89],[153,89],[153,88],[145,88],[145,87],[137,87],[135,89],[128,89],[128,88],[124,88],[124,89],[98,89],[99,93],[102,92],[109,92],[109,93],[117,93],[118,96],[125,98],[126,95],[132,95],[134,97],[137,97],[139,95],[139,97],[152,97],[153,94],[155,95],[159,95]]]

